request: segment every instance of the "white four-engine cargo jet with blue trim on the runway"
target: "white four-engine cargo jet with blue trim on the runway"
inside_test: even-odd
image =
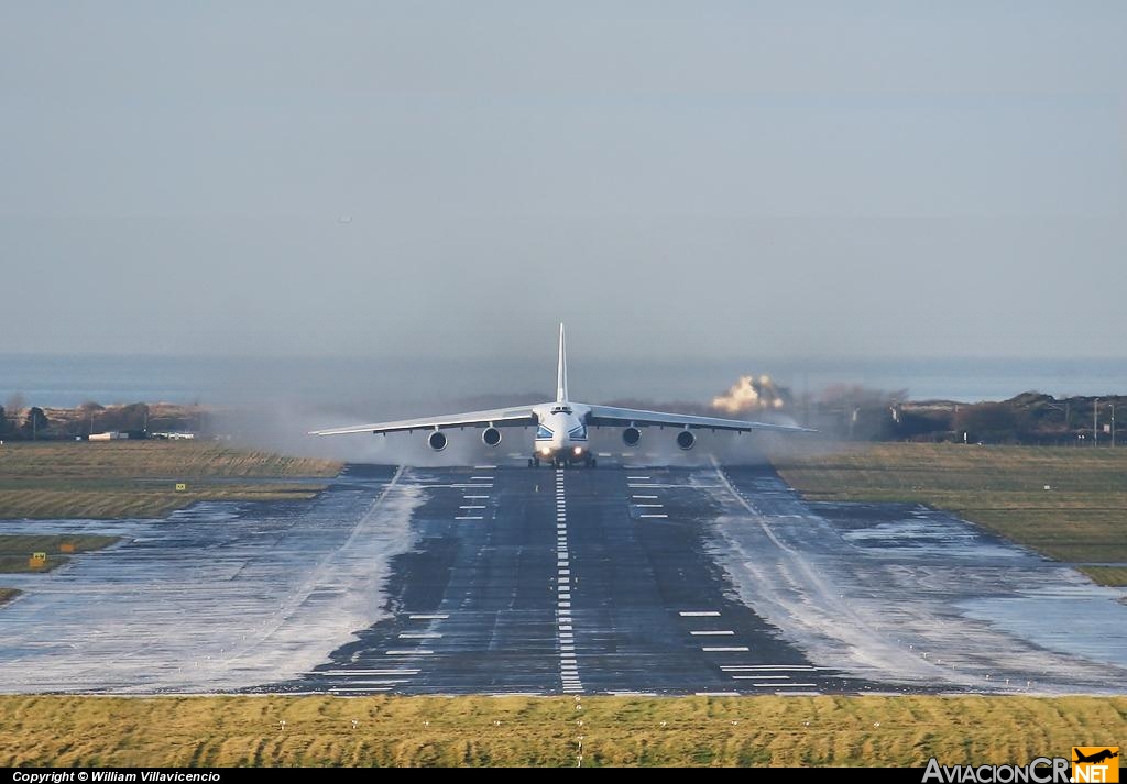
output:
[[[503,427],[534,427],[532,455],[530,466],[539,466],[541,461],[551,462],[554,466],[571,463],[583,463],[594,467],[595,455],[587,446],[587,431],[592,427],[621,427],[622,442],[627,446],[637,446],[641,440],[641,428],[647,426],[671,427],[677,429],[676,444],[682,449],[691,449],[696,443],[694,429],[729,430],[733,433],[751,433],[753,430],[774,430],[786,433],[813,433],[804,427],[790,425],[771,425],[767,422],[748,422],[739,419],[720,419],[718,417],[698,417],[685,413],[666,413],[664,411],[644,411],[639,409],[614,408],[611,406],[589,406],[573,403],[567,392],[567,353],[564,344],[564,324],[560,324],[560,354],[556,374],[556,400],[550,403],[534,403],[515,408],[492,409],[489,411],[468,411],[452,413],[445,417],[423,417],[419,419],[401,419],[393,422],[374,422],[337,427],[328,430],[313,430],[312,436],[338,436],[348,433],[409,433],[428,430],[427,445],[435,452],[446,448],[447,438],[443,433],[447,428],[480,427],[481,440],[487,446],[497,446],[502,440]]]

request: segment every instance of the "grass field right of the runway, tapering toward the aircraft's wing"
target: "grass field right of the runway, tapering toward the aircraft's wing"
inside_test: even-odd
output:
[[[873,444],[777,467],[809,499],[948,509],[1098,582],[1127,585],[1127,449]]]

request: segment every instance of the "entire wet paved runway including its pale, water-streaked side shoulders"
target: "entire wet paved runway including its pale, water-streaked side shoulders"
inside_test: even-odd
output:
[[[349,466],[2,576],[6,692],[1121,693],[1122,590],[763,467]],[[1083,620],[1089,622],[1083,622]]]

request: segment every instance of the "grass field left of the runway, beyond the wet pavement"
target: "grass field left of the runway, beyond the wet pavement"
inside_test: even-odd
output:
[[[0,446],[0,518],[162,517],[199,500],[310,498],[339,463],[206,442]],[[177,491],[183,483],[185,489]]]

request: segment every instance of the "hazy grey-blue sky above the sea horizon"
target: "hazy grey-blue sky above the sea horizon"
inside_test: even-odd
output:
[[[0,351],[1125,357],[1125,42],[1121,0],[0,0]]]

